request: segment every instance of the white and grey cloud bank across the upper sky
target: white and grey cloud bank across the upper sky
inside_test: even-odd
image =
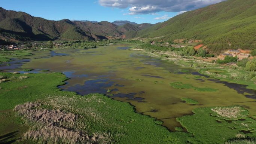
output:
[[[153,14],[160,11],[185,12],[225,0],[98,0],[101,6],[127,8],[128,15]]]

